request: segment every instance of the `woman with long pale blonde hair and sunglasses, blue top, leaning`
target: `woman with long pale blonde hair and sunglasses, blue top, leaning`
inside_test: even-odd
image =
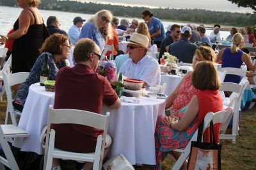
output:
[[[95,13],[83,25],[79,38],[90,38],[100,47],[100,52],[102,52],[108,39],[113,38],[112,19],[113,15],[108,10],[101,10]]]

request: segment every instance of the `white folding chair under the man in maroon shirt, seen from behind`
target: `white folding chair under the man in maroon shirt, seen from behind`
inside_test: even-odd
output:
[[[45,144],[44,169],[51,169],[52,158],[93,162],[93,170],[101,169],[108,131],[108,122],[109,112],[107,112],[106,115],[101,115],[94,112],[76,109],[52,109],[52,105],[50,105]],[[63,151],[54,148],[55,131],[51,129],[52,123],[76,123],[77,125],[86,125],[102,129],[104,130],[104,134],[98,136],[94,153],[74,153],[71,151]]]

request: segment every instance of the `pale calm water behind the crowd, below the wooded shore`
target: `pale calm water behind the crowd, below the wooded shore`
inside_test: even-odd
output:
[[[0,6],[0,35],[6,35],[10,29],[12,29],[14,22],[20,15],[21,8],[13,8],[8,6]],[[61,22],[61,29],[68,31],[68,28],[72,26],[74,17],[80,16],[83,19],[88,20],[92,14],[84,14],[84,13],[72,13],[72,12],[58,12],[58,11],[48,11],[48,10],[40,10],[42,13],[42,17],[44,19],[45,25],[46,20],[49,16],[54,15],[58,17]],[[140,17],[140,16],[138,16]],[[128,19],[130,22],[132,18],[125,18],[125,17],[118,17],[119,20],[121,19]],[[142,19],[139,19],[140,22],[143,22]],[[164,27],[167,27],[169,24],[180,24],[185,25],[187,23],[182,22],[170,22],[170,21],[163,21]],[[212,30],[207,30],[206,34],[209,35]],[[228,31],[220,31],[221,36],[225,39],[228,35]]]

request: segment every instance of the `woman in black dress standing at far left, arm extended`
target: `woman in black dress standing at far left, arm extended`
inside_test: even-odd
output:
[[[12,73],[30,72],[49,33],[45,31],[42,15],[38,10],[40,0],[22,0],[17,3],[23,10],[13,25],[14,32],[8,36],[1,35],[0,43],[14,40]]]

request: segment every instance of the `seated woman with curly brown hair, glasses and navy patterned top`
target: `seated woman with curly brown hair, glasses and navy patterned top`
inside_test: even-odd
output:
[[[69,49],[70,44],[68,42],[68,37],[65,35],[56,33],[45,40],[42,48],[40,49],[41,54],[36,59],[36,62],[29,73],[28,79],[22,84],[22,86],[20,86],[15,97],[13,102],[13,107],[15,109],[22,111],[26,98],[28,97],[29,86],[40,81],[40,72],[45,63],[45,56],[48,58],[50,70],[49,79],[55,80],[59,69],[66,66],[65,59],[68,58]]]

